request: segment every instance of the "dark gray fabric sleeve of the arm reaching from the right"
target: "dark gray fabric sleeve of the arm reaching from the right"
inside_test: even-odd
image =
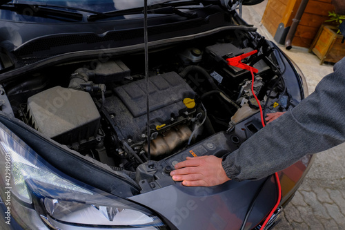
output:
[[[317,70],[315,70],[317,71]],[[306,154],[345,142],[345,58],[315,92],[250,137],[222,164],[229,178],[260,179],[286,169]]]

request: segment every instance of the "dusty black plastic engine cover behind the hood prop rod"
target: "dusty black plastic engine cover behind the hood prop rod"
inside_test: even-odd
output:
[[[178,117],[186,110],[183,99],[195,93],[177,73],[150,77],[150,126],[164,124],[170,117]],[[104,108],[114,116],[122,137],[141,140],[146,133],[146,82],[141,79],[114,88],[117,96],[107,97]]]

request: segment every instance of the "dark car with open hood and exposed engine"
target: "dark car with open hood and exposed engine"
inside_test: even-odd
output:
[[[1,229],[275,226],[310,155],[259,180],[170,177],[308,95],[242,1],[0,3]]]

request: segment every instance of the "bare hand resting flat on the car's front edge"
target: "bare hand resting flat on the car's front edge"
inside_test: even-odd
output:
[[[172,180],[182,181],[185,186],[215,186],[230,180],[221,165],[221,158],[214,155],[187,157],[184,162],[175,164],[170,175]]]

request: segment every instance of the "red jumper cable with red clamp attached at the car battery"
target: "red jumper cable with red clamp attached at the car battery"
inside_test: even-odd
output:
[[[228,65],[229,66],[235,66],[237,68],[242,68],[244,70],[249,70],[250,73],[252,74],[252,93],[253,96],[255,97],[255,100],[257,101],[257,104],[259,105],[259,109],[260,109],[260,115],[261,115],[261,122],[262,122],[262,126],[265,126],[265,122],[264,122],[264,113],[262,112],[262,107],[261,104],[259,102],[259,99],[257,99],[257,96],[254,93],[254,73],[258,73],[259,70],[257,70],[257,68],[254,68],[252,66],[248,66],[247,64],[242,63],[242,59],[245,59],[246,57],[249,57],[250,55],[253,55],[257,53],[257,50],[253,50],[247,53],[244,53],[243,55],[239,55],[237,57],[231,57],[226,59],[226,61],[228,61]],[[270,218],[272,217],[273,213],[275,212],[275,210],[277,209],[277,207],[279,206],[280,200],[282,199],[282,188],[280,187],[280,181],[279,181],[279,176],[278,173],[275,173],[275,180],[277,181],[277,186],[278,186],[278,200],[277,203],[275,204],[275,207],[273,207],[272,211],[270,211],[270,214],[268,215],[268,217],[266,218],[264,224],[262,224],[262,227],[260,228],[260,230],[264,229],[266,227],[266,224],[268,222],[268,220],[270,220]]]

